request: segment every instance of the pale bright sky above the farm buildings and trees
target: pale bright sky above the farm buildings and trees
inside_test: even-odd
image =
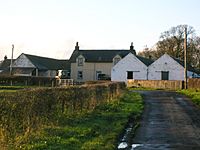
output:
[[[0,60],[21,53],[68,59],[80,49],[151,48],[187,24],[200,36],[199,0],[0,0]]]

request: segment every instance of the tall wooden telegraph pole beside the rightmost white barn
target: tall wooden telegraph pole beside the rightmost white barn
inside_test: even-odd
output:
[[[184,89],[187,89],[187,26],[184,35]]]

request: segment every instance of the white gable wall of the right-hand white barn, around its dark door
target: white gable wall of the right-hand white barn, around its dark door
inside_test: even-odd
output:
[[[148,80],[161,80],[161,71],[169,71],[169,80],[184,80],[184,68],[168,54],[148,67]]]

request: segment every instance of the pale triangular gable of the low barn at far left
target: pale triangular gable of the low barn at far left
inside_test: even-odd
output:
[[[24,55],[21,54],[13,63],[13,68],[36,68],[32,62]]]

